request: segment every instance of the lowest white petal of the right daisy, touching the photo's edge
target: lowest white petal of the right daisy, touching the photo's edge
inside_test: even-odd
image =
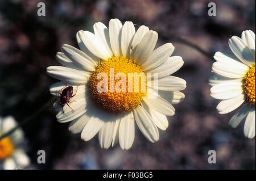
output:
[[[243,133],[247,138],[252,139],[255,137],[255,107],[251,108],[246,117]]]

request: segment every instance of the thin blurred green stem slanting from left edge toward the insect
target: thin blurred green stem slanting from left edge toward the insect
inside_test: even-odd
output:
[[[11,133],[13,133],[16,129],[23,127],[24,125],[26,125],[27,123],[29,123],[31,120],[34,120],[35,117],[37,117],[38,115],[40,115],[43,111],[46,111],[47,108],[49,107],[50,104],[52,104],[54,101],[56,100],[56,98],[52,98],[50,100],[48,100],[48,102],[46,102],[38,111],[36,111],[34,114],[28,116],[26,119],[24,119],[24,121],[22,121],[22,123],[19,123],[18,125],[16,125],[16,127],[10,129],[8,132],[3,133],[0,136],[0,140],[2,140],[2,138],[5,138],[6,136],[9,136]]]

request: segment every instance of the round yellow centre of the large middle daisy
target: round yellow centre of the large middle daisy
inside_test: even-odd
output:
[[[146,75],[133,61],[112,57],[101,61],[90,78],[92,98],[112,112],[127,112],[137,107],[146,95]]]

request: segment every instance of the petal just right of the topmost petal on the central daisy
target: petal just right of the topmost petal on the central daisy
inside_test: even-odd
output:
[[[121,50],[122,55],[128,59],[130,57],[131,41],[133,40],[134,34],[135,28],[133,22],[125,22],[122,28]]]

